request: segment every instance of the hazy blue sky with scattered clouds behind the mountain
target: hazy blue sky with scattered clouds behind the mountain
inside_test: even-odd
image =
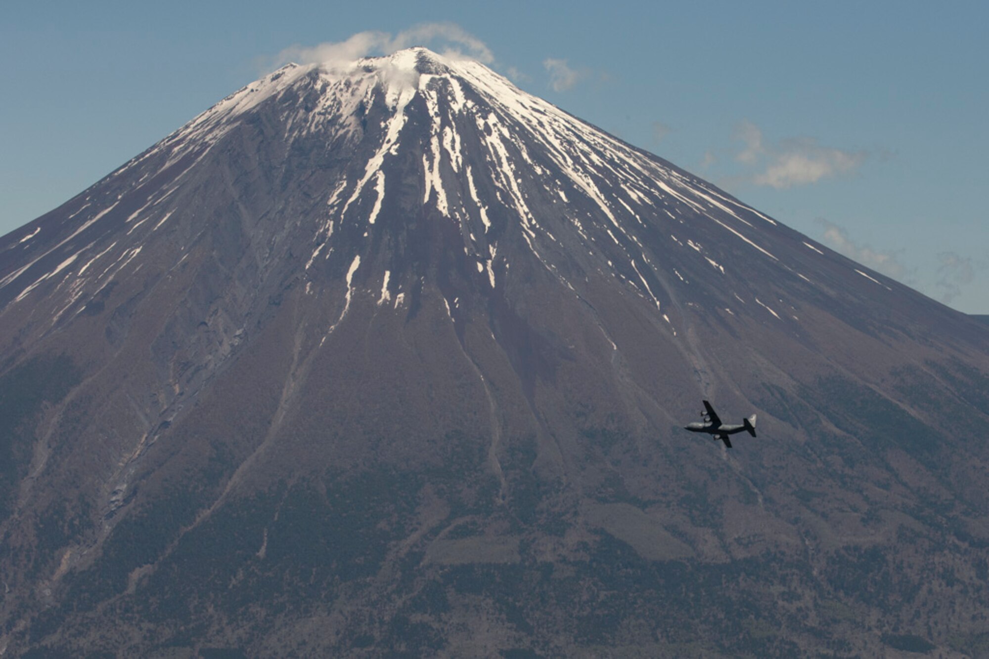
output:
[[[989,313],[989,3],[93,1],[2,14],[0,234],[293,47],[425,24],[422,41],[455,39],[423,44],[490,52],[526,91]]]

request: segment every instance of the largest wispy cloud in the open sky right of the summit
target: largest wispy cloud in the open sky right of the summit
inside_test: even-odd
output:
[[[792,137],[767,143],[759,126],[748,121],[736,127],[735,139],[743,143],[735,160],[762,170],[747,180],[777,190],[851,173],[868,157],[866,151],[821,146],[813,137]]]

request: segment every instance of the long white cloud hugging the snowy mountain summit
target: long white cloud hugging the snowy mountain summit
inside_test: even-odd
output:
[[[326,41],[313,46],[292,45],[278,54],[279,63],[296,61],[302,64],[347,62],[373,55],[389,55],[413,45],[439,43],[441,54],[448,57],[469,57],[485,64],[494,61],[491,48],[454,23],[420,23],[392,35],[367,31],[351,35],[344,41]]]

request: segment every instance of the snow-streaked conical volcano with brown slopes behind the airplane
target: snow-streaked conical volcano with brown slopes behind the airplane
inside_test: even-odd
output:
[[[0,409],[8,655],[989,647],[989,330],[424,48],[0,238]]]

